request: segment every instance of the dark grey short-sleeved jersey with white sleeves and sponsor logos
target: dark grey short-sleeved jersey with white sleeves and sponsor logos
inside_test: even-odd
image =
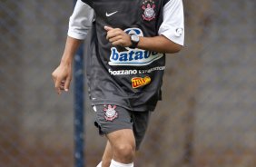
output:
[[[90,38],[85,67],[92,104],[145,111],[161,100],[165,54],[113,46],[105,38],[105,25],[130,35],[164,35],[183,45],[183,22],[182,0],[78,0],[68,35]]]

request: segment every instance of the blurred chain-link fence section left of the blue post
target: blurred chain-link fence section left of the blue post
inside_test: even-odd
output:
[[[0,166],[72,166],[72,95],[54,94],[71,1],[0,1]]]

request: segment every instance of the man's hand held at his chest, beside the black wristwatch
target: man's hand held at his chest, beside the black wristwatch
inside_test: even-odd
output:
[[[104,26],[107,31],[106,39],[113,45],[120,45],[123,47],[129,47],[132,45],[131,37],[126,34],[120,28],[112,28],[109,26]]]

